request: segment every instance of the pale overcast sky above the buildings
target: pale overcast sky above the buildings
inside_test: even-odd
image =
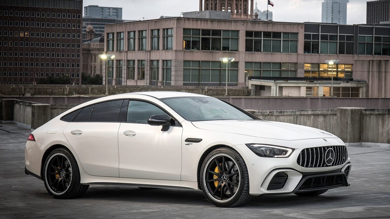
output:
[[[269,11],[274,21],[321,22],[323,0],[271,0]],[[254,0],[257,8],[267,10],[267,0]],[[347,24],[360,24],[366,21],[366,0],[349,0],[347,4]],[[123,19],[156,19],[161,15],[180,16],[181,12],[198,11],[199,0],[84,0],[83,6],[99,5],[122,7]]]

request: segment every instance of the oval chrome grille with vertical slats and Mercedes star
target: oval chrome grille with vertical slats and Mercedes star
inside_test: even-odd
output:
[[[337,166],[347,161],[345,146],[326,146],[305,148],[298,155],[296,162],[303,167]]]

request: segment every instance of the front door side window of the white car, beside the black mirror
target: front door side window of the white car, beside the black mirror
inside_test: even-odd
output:
[[[127,112],[127,121],[132,123],[147,124],[147,119],[152,115],[157,114],[166,113],[153,104],[141,101],[130,101]]]

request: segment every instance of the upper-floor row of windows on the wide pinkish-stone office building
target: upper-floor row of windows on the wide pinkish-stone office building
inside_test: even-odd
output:
[[[172,49],[173,29],[163,29],[162,49]],[[127,32],[127,51],[147,50],[147,30]],[[304,53],[354,54],[354,37],[347,34],[305,33]],[[117,40],[114,48],[114,40]],[[124,51],[124,32],[107,34],[107,51]],[[150,30],[150,49],[160,49],[160,29]],[[183,29],[184,50],[238,51],[238,30]],[[245,51],[297,53],[298,33],[290,32],[245,32]],[[390,37],[358,36],[358,55],[390,55]]]

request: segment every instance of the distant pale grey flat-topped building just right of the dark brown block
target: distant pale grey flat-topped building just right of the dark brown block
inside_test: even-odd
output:
[[[122,19],[122,8],[88,5],[84,7],[84,17]]]

